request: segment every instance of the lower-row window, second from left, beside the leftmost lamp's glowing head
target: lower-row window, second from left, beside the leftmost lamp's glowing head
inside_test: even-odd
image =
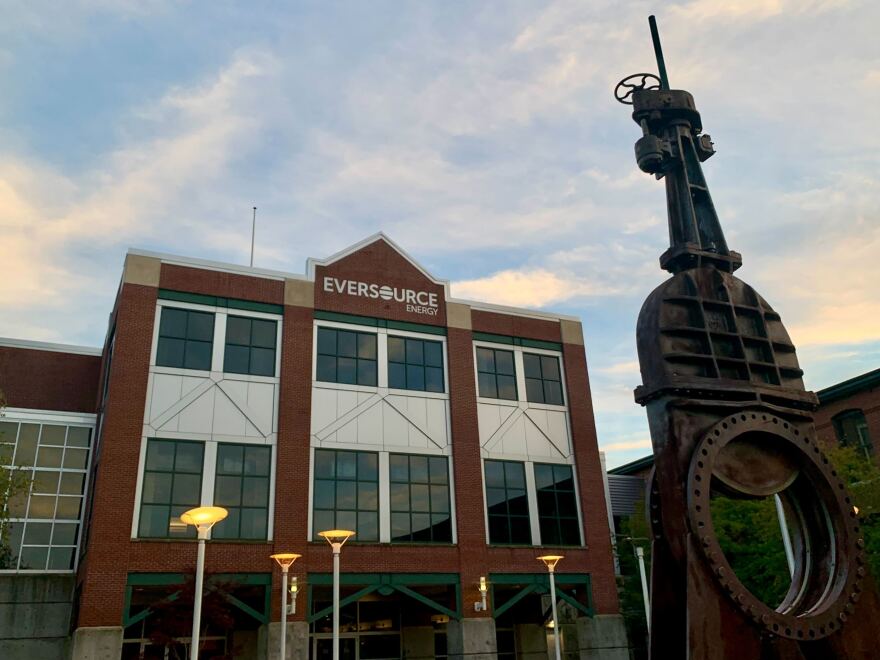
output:
[[[215,539],[265,539],[269,521],[272,448],[217,445],[214,504],[229,511],[211,532]]]

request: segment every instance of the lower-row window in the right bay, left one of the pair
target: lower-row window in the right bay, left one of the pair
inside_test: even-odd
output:
[[[532,542],[526,473],[522,463],[485,461],[489,543]]]

